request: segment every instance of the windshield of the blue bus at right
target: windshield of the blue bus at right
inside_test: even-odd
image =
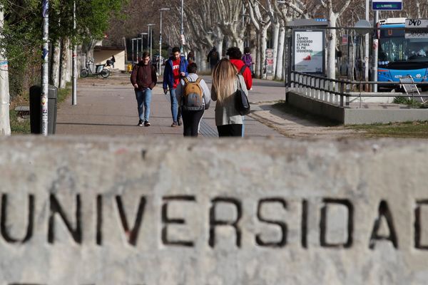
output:
[[[428,38],[405,38],[404,28],[382,28],[379,36],[379,63],[428,64]]]

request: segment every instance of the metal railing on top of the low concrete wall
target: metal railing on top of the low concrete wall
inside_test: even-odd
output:
[[[409,97],[407,94],[400,93],[362,93],[363,88],[367,86],[382,86],[397,88],[399,82],[378,82],[378,81],[350,81],[348,79],[331,79],[323,76],[315,76],[308,73],[291,71],[289,88],[297,93],[306,95],[307,97],[322,100],[340,107],[350,105],[350,97]],[[428,86],[428,82],[417,83],[418,86]],[[352,90],[360,90],[359,95],[352,94]],[[422,95],[423,96],[423,95]],[[428,97],[428,95],[426,96]]]

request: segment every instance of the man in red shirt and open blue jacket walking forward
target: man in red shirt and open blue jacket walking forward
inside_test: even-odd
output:
[[[170,90],[171,114],[173,115],[173,124],[171,127],[181,125],[180,114],[178,113],[178,103],[175,97],[175,88],[180,83],[180,78],[187,76],[188,61],[184,56],[180,55],[180,48],[173,47],[173,56],[165,62],[163,71],[163,93],[166,94],[168,88]]]

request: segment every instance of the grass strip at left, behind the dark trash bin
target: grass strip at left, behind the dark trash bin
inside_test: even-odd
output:
[[[56,103],[59,105],[61,102],[71,95],[71,83],[66,84],[66,88],[58,89]],[[23,135],[31,133],[30,119],[20,118],[18,112],[15,111],[16,106],[28,106],[29,93],[19,95],[11,101],[11,108],[9,109],[9,120],[11,123],[12,135]]]

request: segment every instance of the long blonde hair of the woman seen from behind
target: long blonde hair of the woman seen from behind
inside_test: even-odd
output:
[[[234,83],[236,78],[237,70],[235,66],[228,60],[228,58],[222,58],[222,60],[214,67],[213,70],[213,92],[217,94],[218,103],[222,103],[235,90]]]

